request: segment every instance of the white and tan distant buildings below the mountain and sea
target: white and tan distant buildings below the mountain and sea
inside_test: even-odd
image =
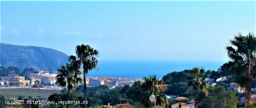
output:
[[[3,76],[0,77],[0,83],[11,82],[16,85],[56,85],[56,76],[58,74],[55,72],[50,74],[48,71],[37,71],[35,72],[27,72],[25,76]],[[26,79],[25,79],[26,77]],[[86,84],[88,86],[100,86],[105,85],[108,88],[112,89],[115,87],[121,87],[125,85],[132,86],[135,81],[144,82],[141,78],[117,78],[117,77],[88,77],[86,79]],[[81,83],[83,84],[83,83]],[[57,86],[57,85],[56,85]]]

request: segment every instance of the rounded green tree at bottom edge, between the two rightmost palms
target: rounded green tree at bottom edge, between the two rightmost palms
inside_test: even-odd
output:
[[[223,86],[210,87],[208,91],[208,98],[202,92],[199,94],[198,108],[237,108],[239,101],[233,91],[226,91]]]

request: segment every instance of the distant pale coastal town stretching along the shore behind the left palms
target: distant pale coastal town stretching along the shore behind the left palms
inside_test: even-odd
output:
[[[12,73],[12,72],[11,72]],[[63,89],[56,84],[57,72],[49,73],[49,71],[39,70],[36,73],[27,72],[25,76],[10,74],[10,76],[0,77],[0,87],[19,87],[19,88],[46,88],[46,89]],[[99,85],[108,86],[109,89],[115,87],[123,87],[125,85],[132,86],[136,81],[143,81],[142,78],[117,78],[117,77],[88,77],[86,84],[88,87]]]

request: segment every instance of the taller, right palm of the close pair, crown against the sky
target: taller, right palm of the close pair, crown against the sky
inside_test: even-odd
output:
[[[85,101],[87,101],[87,93],[86,93],[86,75],[90,70],[97,69],[99,51],[93,49],[90,45],[77,45],[76,46],[76,55],[80,63],[83,64],[83,80],[84,80],[84,96]],[[87,104],[84,106],[87,108]]]

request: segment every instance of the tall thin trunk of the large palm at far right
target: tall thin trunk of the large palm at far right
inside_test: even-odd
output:
[[[249,68],[246,71],[246,85],[245,85],[245,108],[249,108],[251,98],[251,77],[252,77],[252,63],[249,59]]]

